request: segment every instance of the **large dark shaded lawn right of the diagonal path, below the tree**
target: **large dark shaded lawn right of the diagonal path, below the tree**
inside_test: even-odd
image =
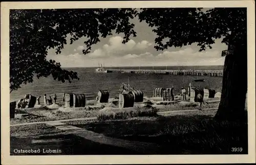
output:
[[[159,144],[163,149],[158,154],[248,154],[247,123],[216,121],[212,115],[195,113],[77,126],[118,139]],[[232,147],[243,150],[232,152]]]

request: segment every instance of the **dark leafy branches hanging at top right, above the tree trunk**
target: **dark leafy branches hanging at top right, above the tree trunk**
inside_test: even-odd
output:
[[[140,21],[146,21],[156,33],[157,50],[182,47],[197,42],[200,51],[211,48],[215,39],[222,43],[246,46],[246,8],[142,8]],[[167,42],[163,40],[167,39]]]

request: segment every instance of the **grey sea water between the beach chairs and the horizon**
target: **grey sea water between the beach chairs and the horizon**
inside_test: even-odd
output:
[[[112,69],[153,69],[153,67],[112,67]],[[167,69],[195,69],[195,70],[223,70],[223,66],[175,66],[167,67]],[[174,86],[174,94],[181,93],[181,87],[186,90],[189,82],[194,87],[209,87],[221,92],[222,77],[211,76],[190,76],[190,75],[164,75],[164,74],[133,74],[133,73],[95,73],[96,68],[63,68],[76,71],[80,80],[73,80],[62,83],[53,80],[52,76],[34,77],[34,81],[27,85],[22,85],[17,91],[12,91],[10,100],[18,100],[23,98],[25,94],[33,96],[57,95],[57,100],[62,99],[63,93],[73,92],[77,94],[85,94],[86,99],[95,99],[99,90],[108,90],[110,97],[115,97],[121,87],[122,82],[128,84],[129,76],[131,77],[131,86],[135,90],[142,90],[144,96],[153,95],[155,88],[172,88]],[[106,68],[110,69],[110,68]],[[166,67],[154,67],[154,69],[163,69]],[[194,79],[205,79],[205,82],[194,82]]]

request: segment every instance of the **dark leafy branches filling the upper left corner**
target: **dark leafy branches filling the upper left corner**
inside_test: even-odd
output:
[[[81,37],[89,53],[91,46],[112,35],[123,33],[123,43],[130,36],[136,36],[134,24],[129,22],[136,14],[134,9],[46,9],[46,10],[10,10],[10,90],[33,82],[37,78],[52,75],[54,80],[65,82],[79,79],[76,72],[61,69],[60,63],[47,61],[50,48],[61,53],[67,44]]]

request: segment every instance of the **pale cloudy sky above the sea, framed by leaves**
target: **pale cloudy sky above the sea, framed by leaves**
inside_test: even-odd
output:
[[[202,66],[224,65],[225,57],[221,57],[222,50],[227,45],[221,43],[222,38],[215,41],[212,49],[207,48],[199,52],[197,43],[183,47],[169,47],[163,51],[154,48],[156,35],[152,28],[137,18],[131,20],[135,24],[137,37],[122,44],[122,34],[113,33],[112,36],[100,38],[100,42],[92,46],[88,54],[82,54],[86,38],[80,38],[73,44],[68,44],[56,54],[54,49],[48,51],[47,59],[60,62],[62,67],[98,67],[98,63],[105,67],[125,66]]]

